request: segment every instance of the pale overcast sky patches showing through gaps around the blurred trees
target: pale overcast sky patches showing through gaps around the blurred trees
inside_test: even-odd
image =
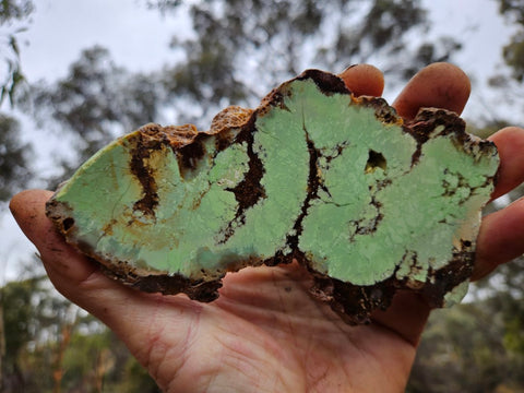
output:
[[[501,47],[512,31],[498,15],[495,0],[425,0],[434,36],[451,34],[467,43],[456,63],[474,80],[464,116],[480,116],[490,93],[484,82],[501,67]],[[29,82],[52,82],[67,74],[82,49],[107,47],[117,64],[147,71],[175,61],[166,50],[174,34],[188,34],[183,20],[174,21],[150,11],[144,0],[38,0],[26,33],[21,36],[21,58]],[[336,70],[335,70],[336,71]],[[386,98],[391,102],[393,97]],[[4,109],[4,108],[2,108]],[[31,139],[31,133],[24,134]],[[46,152],[37,152],[43,159]],[[48,153],[47,153],[48,155]],[[0,285],[16,277],[19,260],[35,250],[7,212],[0,211]],[[3,265],[2,265],[3,264]]]

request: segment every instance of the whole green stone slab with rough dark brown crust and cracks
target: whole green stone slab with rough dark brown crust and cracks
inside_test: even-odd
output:
[[[105,272],[146,291],[215,299],[227,272],[298,260],[350,323],[398,289],[456,301],[473,270],[495,145],[442,109],[409,123],[308,70],[207,132],[143,128],[88,159],[47,214]]]

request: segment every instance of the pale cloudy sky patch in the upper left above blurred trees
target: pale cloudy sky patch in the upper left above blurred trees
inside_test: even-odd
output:
[[[107,47],[119,64],[133,71],[170,60],[166,50],[180,26],[147,10],[140,0],[39,0],[24,37],[24,72],[29,81],[58,79],[84,48]]]

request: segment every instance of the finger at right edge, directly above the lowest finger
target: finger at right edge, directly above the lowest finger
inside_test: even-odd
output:
[[[497,187],[492,199],[513,190],[524,181],[524,129],[504,128],[489,138],[497,145],[500,157]]]

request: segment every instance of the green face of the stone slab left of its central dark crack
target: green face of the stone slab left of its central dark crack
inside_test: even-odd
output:
[[[186,178],[168,145],[152,151],[147,164],[155,168],[159,200],[155,216],[133,209],[142,198],[140,181],[129,169],[139,131],[94,156],[55,199],[73,212],[81,242],[104,259],[141,269],[196,278],[202,270],[217,276],[250,258],[289,254],[286,238],[306,199],[309,172],[301,118],[275,110],[261,117],[257,128],[253,151],[264,168],[265,198],[242,219],[235,219],[238,205],[230,189],[248,170],[246,142],[216,152],[215,136],[205,141],[204,158]],[[286,145],[294,148],[282,148]],[[283,162],[289,163],[288,170],[282,170]]]

